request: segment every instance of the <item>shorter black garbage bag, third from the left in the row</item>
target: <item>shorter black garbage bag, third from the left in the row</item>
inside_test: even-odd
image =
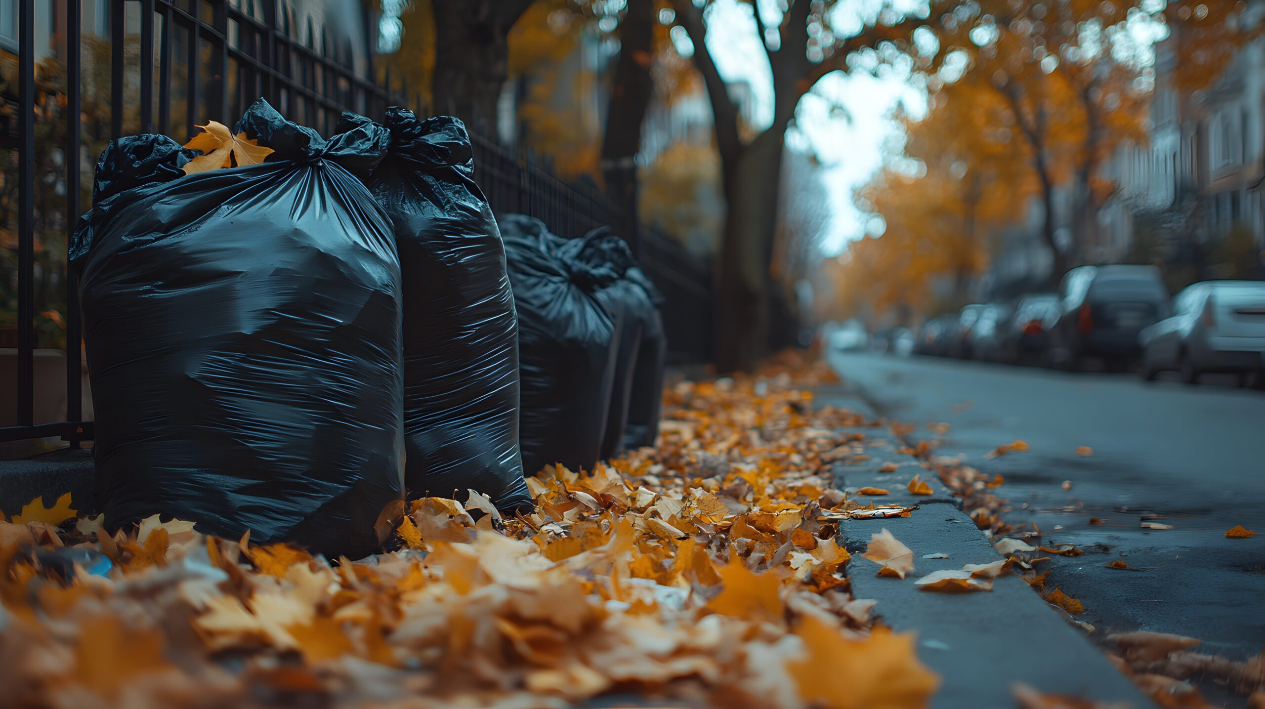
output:
[[[595,293],[617,279],[562,253],[564,240],[524,215],[497,217],[519,312],[519,440],[528,474],[601,458],[619,348],[616,322]]]

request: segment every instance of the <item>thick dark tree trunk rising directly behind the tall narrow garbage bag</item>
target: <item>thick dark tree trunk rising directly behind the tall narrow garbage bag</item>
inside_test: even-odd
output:
[[[510,77],[510,29],[525,0],[433,0],[434,110],[473,133],[495,136],[497,101]]]

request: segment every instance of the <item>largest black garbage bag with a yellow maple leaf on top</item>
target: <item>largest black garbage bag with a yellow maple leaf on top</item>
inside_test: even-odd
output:
[[[191,176],[162,135],[110,143],[71,243],[108,527],[151,514],[230,538],[372,554],[402,509],[400,260],[391,221],[326,142],[263,101],[277,152]]]

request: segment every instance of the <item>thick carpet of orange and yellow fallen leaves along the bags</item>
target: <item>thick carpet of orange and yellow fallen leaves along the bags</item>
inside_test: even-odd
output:
[[[417,500],[362,560],[37,500],[0,522],[0,705],[922,706],[835,543],[861,506],[822,458],[861,421],[805,383],[682,382],[657,449],[541,473],[526,518]]]

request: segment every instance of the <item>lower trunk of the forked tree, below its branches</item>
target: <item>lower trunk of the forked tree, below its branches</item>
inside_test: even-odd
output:
[[[783,133],[765,130],[725,166],[725,233],[712,307],[716,368],[750,372],[768,354],[769,258]]]

